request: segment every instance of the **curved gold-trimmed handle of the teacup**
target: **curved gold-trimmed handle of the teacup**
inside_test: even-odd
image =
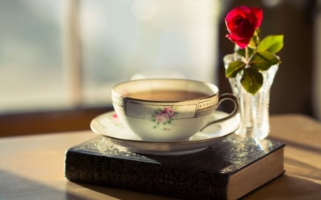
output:
[[[205,127],[208,127],[209,125],[213,125],[213,124],[215,124],[215,123],[217,123],[217,122],[221,122],[221,121],[228,120],[228,119],[234,117],[236,114],[238,114],[238,112],[239,112],[239,110],[240,110],[240,105],[239,105],[239,102],[238,102],[238,97],[236,97],[235,95],[230,94],[230,93],[222,94],[222,95],[220,95],[220,96],[218,97],[218,106],[220,105],[221,102],[223,102],[223,101],[225,101],[225,100],[231,100],[231,101],[234,102],[234,105],[235,105],[234,110],[233,110],[232,112],[230,112],[230,113],[228,114],[228,116],[226,116],[226,117],[222,117],[222,118],[220,118],[220,119],[218,119],[218,120],[214,120],[214,121],[208,122],[208,124],[206,124]],[[217,107],[218,107],[218,106],[217,106]],[[204,130],[205,127],[203,127],[200,131]]]

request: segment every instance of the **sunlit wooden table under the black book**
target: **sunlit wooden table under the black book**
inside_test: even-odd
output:
[[[287,144],[286,172],[243,199],[321,199],[321,123],[305,115],[275,115],[270,123],[269,137]],[[0,199],[170,199],[66,180],[66,149],[92,137],[82,131],[0,138]]]

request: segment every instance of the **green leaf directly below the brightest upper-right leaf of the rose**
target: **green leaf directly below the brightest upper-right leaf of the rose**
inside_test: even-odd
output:
[[[272,65],[277,63],[280,63],[280,58],[274,53],[258,51],[250,59],[249,65],[252,68],[258,68],[258,70],[268,70]]]

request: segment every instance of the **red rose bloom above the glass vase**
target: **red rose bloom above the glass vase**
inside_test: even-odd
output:
[[[240,48],[245,48],[250,43],[255,30],[260,27],[262,19],[262,9],[248,6],[236,7],[225,17],[225,24],[229,32],[226,37]]]

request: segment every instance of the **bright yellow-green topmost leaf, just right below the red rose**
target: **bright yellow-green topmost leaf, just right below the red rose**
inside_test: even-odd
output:
[[[283,48],[283,35],[266,36],[258,45],[258,51],[277,53]]]

